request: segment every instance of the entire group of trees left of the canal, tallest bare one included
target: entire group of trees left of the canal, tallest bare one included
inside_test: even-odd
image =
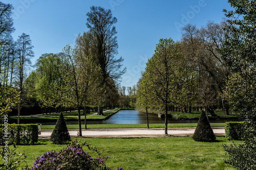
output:
[[[123,59],[116,58],[117,19],[110,10],[91,7],[87,13],[89,31],[77,37],[73,48],[67,45],[61,53],[42,54],[31,72],[34,54],[30,37],[22,34],[14,41],[13,7],[0,2],[0,10],[0,104],[6,108],[7,99],[19,96],[12,101],[12,106],[17,104],[18,124],[24,106],[49,108],[49,112],[51,108],[75,108],[81,136],[81,109],[86,113],[87,107],[98,107],[98,114],[103,114],[104,105],[115,107],[118,100],[125,105],[118,82],[126,68],[122,67]]]

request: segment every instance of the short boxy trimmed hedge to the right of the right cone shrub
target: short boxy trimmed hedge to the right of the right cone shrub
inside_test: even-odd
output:
[[[228,140],[243,140],[245,122],[226,122],[225,133]]]

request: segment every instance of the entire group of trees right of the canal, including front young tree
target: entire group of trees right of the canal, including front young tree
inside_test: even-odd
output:
[[[146,112],[164,110],[166,118],[168,110],[177,108],[188,113],[205,108],[212,116],[215,108],[222,108],[228,115],[225,89],[230,70],[218,50],[228,34],[226,25],[209,21],[197,29],[188,24],[180,41],[160,39],[137,83],[136,106]]]

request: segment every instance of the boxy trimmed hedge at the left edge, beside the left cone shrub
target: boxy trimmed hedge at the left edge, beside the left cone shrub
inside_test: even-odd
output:
[[[7,135],[8,133],[8,135]],[[34,144],[38,141],[37,124],[0,125],[0,144],[8,139],[8,144]]]

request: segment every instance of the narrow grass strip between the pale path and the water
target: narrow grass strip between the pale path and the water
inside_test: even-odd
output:
[[[225,123],[211,123],[211,127],[224,127]],[[54,129],[55,125],[42,125],[41,129]],[[78,125],[67,125],[68,129],[78,129]],[[84,127],[82,125],[82,127]],[[195,123],[188,124],[168,124],[169,128],[197,127]],[[146,124],[115,124],[115,125],[87,125],[88,129],[109,129],[109,128],[147,128]],[[150,124],[150,128],[164,128],[164,124]]]

